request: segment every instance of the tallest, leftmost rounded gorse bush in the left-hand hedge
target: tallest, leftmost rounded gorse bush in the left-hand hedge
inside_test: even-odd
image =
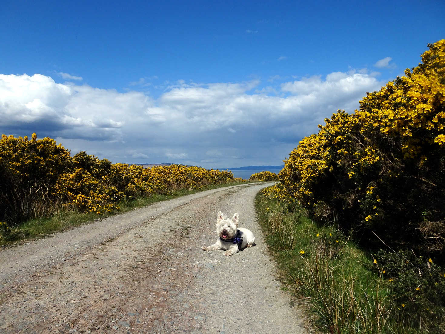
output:
[[[21,221],[31,216],[37,201],[47,201],[61,173],[69,168],[69,151],[51,138],[37,135],[0,140],[0,220]],[[43,209],[42,215],[50,212]]]

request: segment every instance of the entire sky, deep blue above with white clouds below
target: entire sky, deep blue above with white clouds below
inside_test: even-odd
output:
[[[72,153],[279,165],[445,38],[443,1],[6,1],[0,132]]]

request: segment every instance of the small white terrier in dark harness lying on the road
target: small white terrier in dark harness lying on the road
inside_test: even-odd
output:
[[[209,247],[202,246],[202,249],[207,252],[223,249],[226,251],[226,256],[230,257],[238,253],[240,249],[255,246],[255,236],[252,231],[247,228],[238,228],[238,223],[238,213],[235,213],[232,219],[228,219],[223,212],[218,212],[216,233],[219,239]]]

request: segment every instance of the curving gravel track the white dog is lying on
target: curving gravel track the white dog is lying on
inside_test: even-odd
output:
[[[152,204],[0,251],[1,333],[308,333],[255,218],[271,183]],[[226,257],[218,211],[257,245]]]

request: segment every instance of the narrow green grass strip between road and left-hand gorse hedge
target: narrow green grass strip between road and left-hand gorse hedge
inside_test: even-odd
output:
[[[142,208],[146,205],[160,202],[163,200],[170,200],[173,198],[194,194],[201,191],[210,189],[217,189],[220,187],[229,187],[240,184],[246,184],[250,182],[234,182],[234,183],[221,183],[217,185],[207,185],[199,190],[196,189],[179,189],[172,191],[169,195],[154,194],[150,197],[139,197],[134,200],[129,200],[119,204],[119,211],[97,215],[95,213],[78,212],[73,208],[57,208],[57,212],[48,219],[32,219],[28,220],[12,231],[8,231],[6,237],[0,237],[0,246],[14,244],[17,241],[45,237],[50,233],[60,232],[68,228],[80,226],[82,224],[88,224],[95,219],[113,216],[116,214],[128,212],[134,208]],[[6,233],[4,233],[5,235]],[[1,236],[1,235],[0,235]]]

